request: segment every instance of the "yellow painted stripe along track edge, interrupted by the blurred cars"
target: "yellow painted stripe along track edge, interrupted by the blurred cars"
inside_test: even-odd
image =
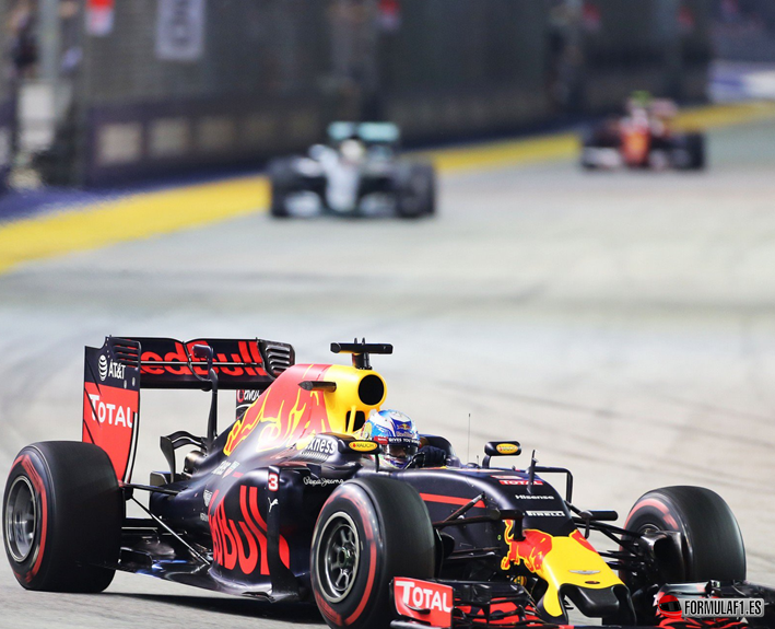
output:
[[[681,128],[715,128],[775,118],[775,104],[700,107],[682,112]],[[578,139],[555,133],[419,152],[442,173],[572,159]],[[70,211],[0,226],[0,273],[28,260],[166,234],[266,211],[269,183],[240,177],[153,193],[140,193]]]

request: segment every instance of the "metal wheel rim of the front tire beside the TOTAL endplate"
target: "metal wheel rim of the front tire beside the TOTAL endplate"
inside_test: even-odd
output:
[[[329,603],[344,599],[355,583],[361,562],[361,538],[352,517],[334,514],[320,535],[318,574],[320,590]]]

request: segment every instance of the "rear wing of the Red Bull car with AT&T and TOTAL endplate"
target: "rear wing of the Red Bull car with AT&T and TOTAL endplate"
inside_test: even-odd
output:
[[[262,339],[107,337],[87,347],[83,384],[82,440],[107,452],[116,477],[132,475],[141,388],[208,388],[207,360],[195,346],[212,349],[219,388],[237,391],[237,403],[258,394],[295,362],[292,346]],[[200,376],[200,377],[197,377]]]

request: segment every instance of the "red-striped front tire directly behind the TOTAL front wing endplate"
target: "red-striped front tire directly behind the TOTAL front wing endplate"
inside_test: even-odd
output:
[[[418,492],[371,476],[337,488],[318,516],[312,545],[312,584],[333,629],[387,629],[396,618],[396,576],[434,575],[435,538]]]

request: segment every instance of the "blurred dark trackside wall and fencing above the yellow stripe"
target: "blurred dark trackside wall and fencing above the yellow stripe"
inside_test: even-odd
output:
[[[2,0],[0,16],[0,164],[55,185],[257,164],[334,119],[395,121],[411,147],[567,125],[633,90],[775,92],[767,0]]]

